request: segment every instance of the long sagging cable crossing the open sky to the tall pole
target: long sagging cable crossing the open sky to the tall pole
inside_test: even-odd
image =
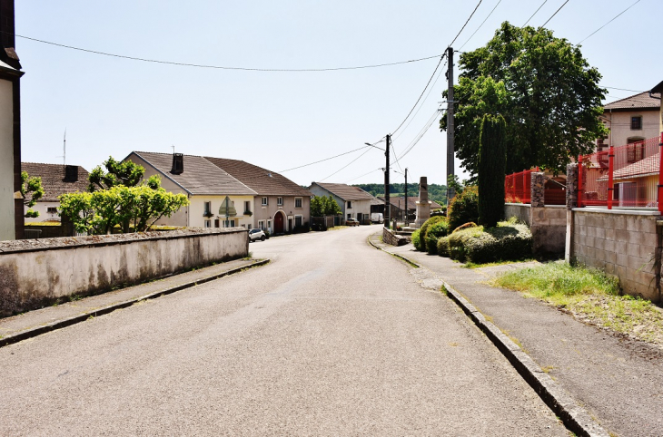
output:
[[[9,32],[4,32],[0,31],[3,34],[11,34]],[[141,58],[137,56],[128,56],[124,54],[117,54],[117,53],[107,53],[107,52],[100,52],[98,50],[92,50],[92,49],[84,49],[82,47],[75,47],[74,45],[67,45],[67,44],[59,44],[59,43],[53,43],[50,41],[45,41],[41,40],[38,38],[33,38],[31,36],[25,36],[25,35],[20,35],[20,34],[14,34],[14,36],[18,38],[23,38],[29,41],[34,41],[36,43],[41,43],[41,44],[49,44],[49,45],[54,45],[56,47],[62,47],[65,49],[70,49],[70,50],[77,50],[79,52],[84,52],[84,53],[94,53],[94,54],[100,54],[104,56],[110,56],[114,58],[120,58],[120,59],[128,59],[131,61],[140,61],[143,63],[163,63],[163,64],[168,64],[168,65],[178,65],[178,66],[183,66],[183,67],[195,67],[195,68],[212,68],[216,70],[240,70],[244,72],[288,72],[288,73],[306,73],[306,72],[336,72],[336,71],[341,71],[341,70],[361,70],[361,69],[366,69],[366,68],[379,68],[379,67],[388,67],[392,65],[401,65],[403,63],[418,63],[421,61],[427,61],[429,59],[434,59],[441,54],[436,54],[434,56],[427,56],[425,58],[417,58],[417,59],[410,59],[407,61],[399,61],[395,63],[374,63],[374,64],[369,64],[369,65],[355,65],[355,66],[349,66],[349,67],[330,67],[330,68],[251,68],[251,67],[233,67],[233,66],[225,66],[225,65],[208,65],[208,64],[202,64],[202,63],[177,63],[173,61],[162,61],[158,59],[149,59],[149,58]]]

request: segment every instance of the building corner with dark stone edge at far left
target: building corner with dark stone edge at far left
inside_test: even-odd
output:
[[[0,240],[23,238],[21,63],[15,52],[14,0],[0,0]]]

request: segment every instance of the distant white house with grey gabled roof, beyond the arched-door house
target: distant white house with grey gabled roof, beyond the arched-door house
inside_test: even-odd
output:
[[[359,187],[347,184],[312,182],[309,187],[315,196],[330,196],[341,207],[342,224],[348,218],[354,218],[360,223],[371,222],[371,205],[375,198]]]

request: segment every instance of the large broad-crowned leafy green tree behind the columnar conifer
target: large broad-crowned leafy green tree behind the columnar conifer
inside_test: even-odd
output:
[[[507,173],[534,166],[562,172],[572,157],[588,153],[593,141],[607,134],[599,120],[606,92],[599,87],[599,71],[578,46],[548,29],[505,22],[486,46],[461,54],[459,64],[455,146],[473,176],[479,170],[480,123],[485,113],[495,113],[477,95],[489,77],[504,84],[505,102],[497,113],[507,127]],[[446,116],[440,128],[446,130]]]

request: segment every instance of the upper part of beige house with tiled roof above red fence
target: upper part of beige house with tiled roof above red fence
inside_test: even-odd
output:
[[[609,128],[607,139],[599,140],[599,151],[608,146],[623,146],[660,134],[660,92],[640,92],[603,107],[601,120]]]

